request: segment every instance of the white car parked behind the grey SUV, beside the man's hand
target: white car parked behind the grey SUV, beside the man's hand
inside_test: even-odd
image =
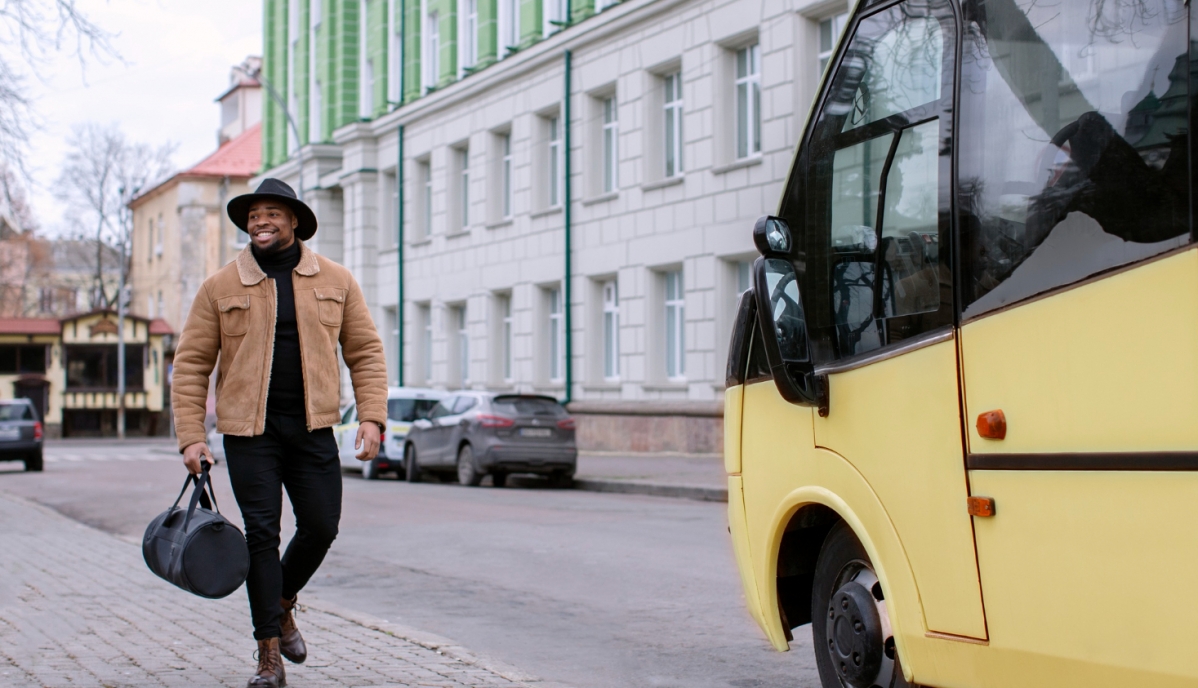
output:
[[[382,443],[379,446],[379,455],[370,461],[357,459],[358,451],[353,448],[353,441],[358,435],[358,409],[357,405],[350,404],[341,415],[340,424],[333,428],[341,467],[361,470],[362,477],[368,481],[385,472],[395,472],[404,477],[403,447],[407,431],[413,421],[428,417],[444,396],[444,392],[418,387],[387,390],[387,431],[383,433]]]

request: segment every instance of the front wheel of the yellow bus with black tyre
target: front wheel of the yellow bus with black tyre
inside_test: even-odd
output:
[[[882,584],[852,529],[831,529],[816,561],[811,634],[824,688],[912,688],[903,678]]]

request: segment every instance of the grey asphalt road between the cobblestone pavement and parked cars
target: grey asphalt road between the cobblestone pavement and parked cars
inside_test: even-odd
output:
[[[0,464],[0,490],[139,541],[183,475],[163,443],[59,442],[43,473]],[[818,687],[810,636],[774,652],[745,612],[726,527],[722,503],[347,473],[308,592],[553,683]]]

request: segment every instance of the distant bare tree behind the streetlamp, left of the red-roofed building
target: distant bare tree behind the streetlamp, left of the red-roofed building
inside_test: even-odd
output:
[[[55,197],[66,204],[67,221],[96,242],[95,306],[110,308],[116,294],[104,289],[104,247],[126,257],[120,270],[127,279],[133,228],[125,217],[126,205],[139,191],[170,174],[176,146],[133,143],[116,125],[97,123],[75,126],[67,143],[71,149]]]

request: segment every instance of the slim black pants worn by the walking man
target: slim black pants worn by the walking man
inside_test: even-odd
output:
[[[341,519],[341,464],[332,428],[309,433],[303,416],[267,415],[256,437],[225,435],[232,494],[249,545],[249,612],[254,638],[279,636],[280,598],[303,590],[328,553]],[[283,488],[296,535],[279,560]]]

